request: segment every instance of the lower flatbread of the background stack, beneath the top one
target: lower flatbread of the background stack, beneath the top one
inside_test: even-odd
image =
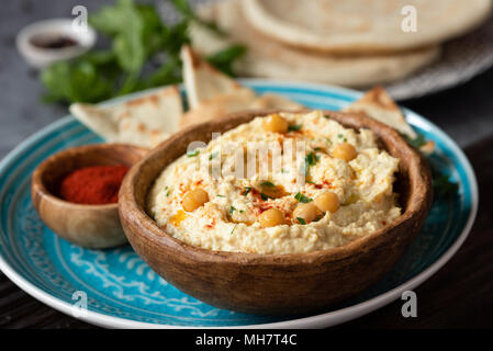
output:
[[[209,55],[232,43],[245,44],[247,55],[235,66],[235,71],[244,76],[371,87],[406,77],[430,64],[440,53],[438,46],[402,54],[351,57],[299,50],[254,31],[242,14],[238,0],[202,5],[199,12],[224,27],[229,37],[225,41],[194,25],[190,30],[193,48]]]

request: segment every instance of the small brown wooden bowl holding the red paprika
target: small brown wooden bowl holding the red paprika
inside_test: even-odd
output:
[[[103,249],[126,242],[117,204],[81,205],[58,197],[61,179],[82,167],[133,166],[147,149],[122,144],[97,144],[70,148],[43,161],[34,171],[31,195],[42,220],[70,242]]]

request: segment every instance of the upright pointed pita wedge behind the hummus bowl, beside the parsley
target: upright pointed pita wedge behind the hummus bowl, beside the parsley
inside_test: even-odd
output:
[[[181,118],[181,127],[244,110],[303,107],[281,95],[257,95],[251,89],[213,68],[188,46],[181,49],[181,57],[184,87],[191,106]]]

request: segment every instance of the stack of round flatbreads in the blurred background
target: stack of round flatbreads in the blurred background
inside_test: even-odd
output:
[[[439,57],[445,41],[484,22],[492,0],[219,0],[199,13],[227,38],[194,25],[192,45],[212,54],[247,46],[243,76],[370,87]]]

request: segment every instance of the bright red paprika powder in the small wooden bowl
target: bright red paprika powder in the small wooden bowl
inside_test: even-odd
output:
[[[85,205],[116,203],[120,186],[128,169],[128,167],[120,165],[77,169],[61,180],[60,197]]]

